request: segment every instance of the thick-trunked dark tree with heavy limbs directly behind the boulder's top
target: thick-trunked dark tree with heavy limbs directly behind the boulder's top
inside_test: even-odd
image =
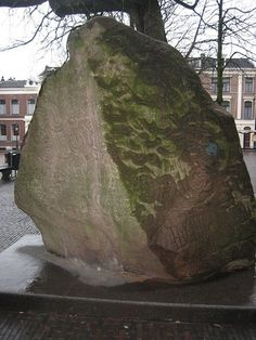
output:
[[[169,0],[193,10],[200,0]],[[0,6],[24,8],[35,6],[46,0],[0,0]],[[155,39],[166,41],[161,4],[157,0],[49,0],[50,8],[60,17],[72,14],[102,12],[126,12],[130,15],[136,29]]]

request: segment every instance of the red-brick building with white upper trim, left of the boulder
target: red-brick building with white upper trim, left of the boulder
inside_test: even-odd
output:
[[[4,154],[20,149],[31,120],[39,84],[26,80],[0,81],[0,164]]]

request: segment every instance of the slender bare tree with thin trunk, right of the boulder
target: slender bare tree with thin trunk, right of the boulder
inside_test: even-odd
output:
[[[189,52],[195,47],[204,47],[206,56],[216,58],[215,70],[217,73],[217,99],[221,105],[223,102],[223,71],[230,60],[242,56],[255,61],[256,49],[256,6],[244,2],[231,0],[207,0],[200,16],[200,29],[195,35]],[[202,31],[206,39],[201,39]],[[228,54],[228,56],[227,56]],[[226,56],[226,57],[225,57]],[[214,63],[210,64],[210,67]]]

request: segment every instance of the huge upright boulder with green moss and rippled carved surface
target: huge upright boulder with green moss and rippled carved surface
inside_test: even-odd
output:
[[[233,118],[171,47],[111,18],[42,84],[15,199],[49,251],[141,278],[254,263],[255,201]]]

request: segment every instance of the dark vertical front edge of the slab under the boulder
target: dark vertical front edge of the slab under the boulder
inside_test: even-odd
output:
[[[140,318],[214,324],[256,324],[256,308],[140,302],[0,292],[0,309],[20,312],[67,312],[91,317]]]

